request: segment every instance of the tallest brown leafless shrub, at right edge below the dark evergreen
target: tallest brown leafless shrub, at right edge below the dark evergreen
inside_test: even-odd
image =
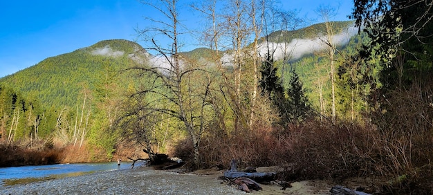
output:
[[[432,77],[415,79],[407,89],[387,91],[371,117],[380,131],[380,163],[388,165],[385,170],[393,177],[387,185],[390,192],[433,191],[432,94]]]

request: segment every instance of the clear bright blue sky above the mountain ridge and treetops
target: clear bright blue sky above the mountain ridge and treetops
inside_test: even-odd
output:
[[[347,20],[353,7],[348,0],[280,1],[282,9],[297,10],[300,17],[317,21],[315,10],[320,5],[338,8],[335,20]],[[187,25],[197,24],[194,19],[198,15],[192,15],[188,6],[182,8]],[[138,0],[1,0],[0,77],[101,40],[135,40],[134,28],[144,28],[144,17],[152,14]],[[192,44],[186,50],[194,47]]]

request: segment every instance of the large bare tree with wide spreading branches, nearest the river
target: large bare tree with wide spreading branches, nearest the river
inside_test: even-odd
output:
[[[145,88],[131,95],[142,95],[147,102],[140,110],[149,114],[165,114],[183,124],[183,128],[192,140],[194,163],[200,166],[199,148],[205,131],[205,108],[209,106],[208,95],[212,76],[205,68],[196,64],[187,64],[180,53],[179,36],[185,33],[179,22],[178,0],[141,1],[148,8],[156,10],[160,16],[146,19],[158,24],[138,30],[144,38],[145,49],[156,53],[150,66],[136,66],[131,69],[142,71],[153,81]],[[169,48],[158,43],[157,37],[170,41]],[[196,80],[194,78],[197,78]],[[158,102],[167,102],[161,105]]]

